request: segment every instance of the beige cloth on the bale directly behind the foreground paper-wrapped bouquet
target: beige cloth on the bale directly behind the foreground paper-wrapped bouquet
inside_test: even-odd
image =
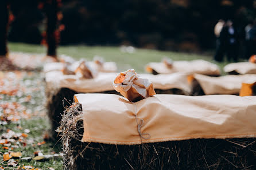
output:
[[[46,84],[56,88],[69,88],[80,93],[97,93],[114,90],[112,84],[118,73],[99,73],[96,78],[80,79],[76,75],[63,75],[60,71],[45,73]],[[139,77],[148,78],[154,89],[181,89],[185,93],[191,92],[187,82],[187,74],[173,73],[163,75],[139,74]]]

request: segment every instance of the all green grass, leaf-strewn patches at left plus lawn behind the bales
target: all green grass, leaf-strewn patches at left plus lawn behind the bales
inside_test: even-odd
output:
[[[40,45],[28,45],[21,43],[9,43],[9,50],[11,52],[25,52],[25,53],[45,53],[46,48]],[[87,58],[91,60],[95,55],[102,56],[106,61],[115,61],[117,62],[119,71],[125,71],[130,68],[134,68],[138,73],[145,72],[145,65],[148,62],[159,62],[162,57],[169,57],[172,60],[196,60],[203,59],[207,61],[212,61],[211,54],[193,54],[193,53],[178,53],[178,52],[166,52],[166,51],[158,51],[158,50],[146,50],[146,49],[135,49],[134,53],[123,53],[121,52],[119,47],[111,47],[111,46],[85,46],[85,45],[76,45],[76,46],[60,46],[57,50],[58,54],[65,54],[67,56],[71,56],[79,60],[80,58]],[[227,62],[217,63],[220,68],[223,68]],[[28,76],[22,81],[26,80],[39,80],[42,82],[42,74],[35,73],[34,76]],[[37,106],[44,106],[44,84],[41,83],[40,92],[33,92],[34,103],[27,102],[22,103],[26,107],[33,110],[36,110]],[[1,94],[0,94],[1,97]],[[24,96],[21,96],[24,97]],[[20,97],[9,97],[2,96],[2,100],[4,101],[19,101]],[[45,110],[43,109],[45,113]],[[30,133],[28,135],[28,140],[33,140],[33,144],[28,144],[25,147],[20,145],[18,148],[14,148],[14,151],[22,152],[22,157],[33,157],[34,151],[40,150],[44,155],[51,154],[52,151],[59,152],[61,147],[55,143],[47,142],[44,145],[34,145],[35,143],[40,143],[44,140],[44,133],[46,129],[49,128],[49,121],[46,118],[45,114],[40,114],[39,116],[34,116],[28,120],[21,119],[18,122],[10,122],[7,125],[0,125],[0,132],[5,132],[7,129],[11,129],[14,132],[20,133],[22,129],[30,129]],[[0,145],[0,153],[5,153],[6,150],[2,148]],[[1,154],[0,154],[1,155]],[[0,167],[1,167],[2,157],[0,156]],[[49,169],[52,167],[54,169],[63,169],[63,162],[61,158],[57,159],[49,159],[46,161],[25,161],[20,160],[19,165],[32,165],[41,169]],[[7,167],[6,169],[15,169],[11,167]]]

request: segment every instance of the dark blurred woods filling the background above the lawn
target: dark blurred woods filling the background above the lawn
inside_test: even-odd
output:
[[[45,0],[47,1],[47,0]],[[134,45],[161,50],[214,48],[218,19],[232,19],[241,40],[255,0],[62,0],[60,44]],[[46,15],[38,1],[15,1],[9,40],[38,44]],[[44,35],[44,34],[43,34]]]

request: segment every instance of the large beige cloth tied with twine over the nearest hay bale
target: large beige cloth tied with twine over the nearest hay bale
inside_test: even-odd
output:
[[[115,94],[76,94],[82,141],[141,144],[186,139],[256,137],[256,96],[156,94],[131,103]],[[142,137],[138,133],[141,124]]]

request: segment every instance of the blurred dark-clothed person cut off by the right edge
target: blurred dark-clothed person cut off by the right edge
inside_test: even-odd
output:
[[[248,43],[246,46],[246,57],[250,58],[256,54],[256,19],[254,20],[253,26],[248,31]]]

